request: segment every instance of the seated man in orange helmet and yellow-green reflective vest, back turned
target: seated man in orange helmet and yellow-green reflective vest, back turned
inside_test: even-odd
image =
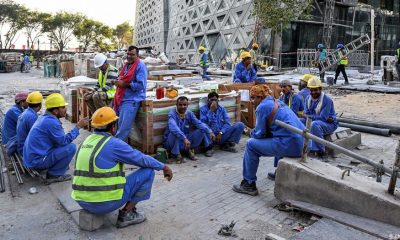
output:
[[[150,198],[154,170],[163,170],[168,181],[172,171],[163,163],[133,149],[114,137],[118,117],[110,107],[102,107],[92,116],[94,132],[80,145],[75,157],[71,197],[94,214],[119,210],[117,228],[146,220],[136,204]],[[125,177],[124,164],[140,167]]]

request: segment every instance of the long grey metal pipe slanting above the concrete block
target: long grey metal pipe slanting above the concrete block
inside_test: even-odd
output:
[[[390,169],[388,167],[385,167],[383,164],[376,163],[375,161],[373,161],[373,160],[371,160],[369,158],[366,158],[364,156],[358,155],[357,153],[354,153],[354,152],[352,152],[352,151],[350,151],[350,150],[348,150],[346,148],[340,147],[340,146],[338,146],[338,145],[336,145],[334,143],[326,141],[325,139],[321,139],[321,138],[319,138],[319,137],[317,137],[317,136],[315,136],[315,135],[313,135],[311,133],[303,132],[303,130],[300,130],[300,129],[296,128],[296,127],[293,127],[292,125],[289,125],[289,124],[284,123],[284,122],[279,121],[279,120],[275,120],[275,124],[280,126],[280,127],[285,128],[285,129],[287,129],[289,131],[292,131],[292,132],[295,132],[295,133],[297,133],[299,135],[302,135],[304,138],[309,138],[309,139],[311,139],[311,140],[313,140],[313,141],[315,141],[317,143],[320,143],[320,144],[324,145],[325,147],[337,150],[337,151],[339,151],[341,153],[346,154],[347,156],[353,157],[353,158],[355,158],[355,159],[357,159],[357,160],[359,160],[359,161],[361,161],[363,163],[369,164],[369,165],[371,165],[371,166],[373,166],[373,167],[375,167],[377,169],[381,168],[383,171],[385,171],[386,173],[388,173],[390,175],[392,175],[392,173],[393,173],[392,169]],[[398,177],[400,177],[400,175]]]

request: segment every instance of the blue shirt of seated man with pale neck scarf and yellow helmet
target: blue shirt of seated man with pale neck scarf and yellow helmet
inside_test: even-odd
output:
[[[310,106],[308,106],[309,99],[311,99]],[[324,122],[326,122],[326,120],[330,117],[333,119],[333,124],[338,125],[338,122],[336,120],[335,106],[333,105],[332,99],[325,94],[322,100],[322,107],[319,114],[316,111],[318,103],[319,99],[314,101],[312,97],[309,96],[305,102],[305,109],[304,109],[305,115],[310,117],[313,121],[320,120]]]

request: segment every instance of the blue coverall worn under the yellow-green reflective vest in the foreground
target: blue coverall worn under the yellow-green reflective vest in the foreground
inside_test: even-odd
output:
[[[95,132],[95,134],[110,135],[104,132]],[[77,201],[83,209],[95,214],[106,214],[122,207],[127,202],[138,203],[150,198],[154,170],[162,170],[164,164],[133,149],[124,141],[112,137],[105,143],[102,150],[96,156],[95,164],[101,169],[110,169],[118,164],[118,162],[140,167],[140,169],[126,177],[121,200],[98,203]]]

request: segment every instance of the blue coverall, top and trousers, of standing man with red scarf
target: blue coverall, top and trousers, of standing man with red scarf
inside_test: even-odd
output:
[[[128,70],[128,68],[127,68]],[[127,74],[125,73],[120,74]],[[131,131],[136,114],[140,108],[140,103],[146,99],[147,85],[147,67],[140,60],[136,67],[134,79],[126,88],[125,95],[122,98],[121,107],[119,109],[118,130],[115,137],[125,141]]]

